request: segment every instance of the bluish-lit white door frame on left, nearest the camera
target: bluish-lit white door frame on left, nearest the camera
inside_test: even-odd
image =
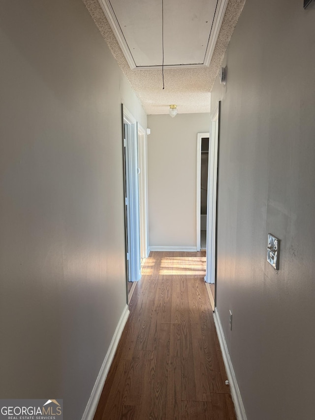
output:
[[[140,220],[138,182],[138,129],[137,122],[123,105],[124,127],[126,128],[124,147],[126,149],[126,217],[128,281],[138,281],[141,277],[140,261]]]

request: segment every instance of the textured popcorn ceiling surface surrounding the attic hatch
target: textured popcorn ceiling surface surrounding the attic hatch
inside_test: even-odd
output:
[[[163,90],[161,69],[131,70],[98,0],[83,0],[148,115],[167,114],[172,103],[181,114],[210,112],[210,92],[245,1],[229,0],[209,67],[164,68]]]

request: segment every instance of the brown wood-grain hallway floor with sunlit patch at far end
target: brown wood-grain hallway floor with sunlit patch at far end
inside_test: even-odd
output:
[[[94,420],[236,420],[205,252],[151,252]]]

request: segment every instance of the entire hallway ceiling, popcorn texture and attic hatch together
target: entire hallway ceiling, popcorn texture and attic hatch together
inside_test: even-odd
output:
[[[210,92],[245,0],[83,0],[147,114],[210,111]]]

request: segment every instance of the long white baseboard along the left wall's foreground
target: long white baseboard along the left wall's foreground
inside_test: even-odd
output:
[[[104,388],[105,380],[106,380],[110,365],[112,364],[112,361],[113,361],[113,358],[114,358],[114,355],[118,346],[118,342],[119,342],[120,337],[122,336],[128,316],[129,316],[129,309],[128,309],[128,305],[126,305],[122,313],[122,316],[120,317],[119,323],[116,327],[108,352],[104,358],[104,361],[102,363],[102,366],[96,378],[96,382],[93,387],[93,390],[92,390],[90,399],[88,401],[88,404],[86,406],[86,409],[84,411],[84,414],[82,416],[82,420],[93,420],[94,418],[97,404],[98,404],[100,395],[102,393],[102,390]]]

